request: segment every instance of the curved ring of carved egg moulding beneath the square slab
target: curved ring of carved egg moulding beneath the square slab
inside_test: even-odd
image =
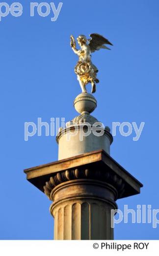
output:
[[[68,181],[70,182],[68,183]],[[45,183],[44,192],[50,200],[53,200],[53,191],[58,189],[60,184],[64,186],[64,184],[71,185],[75,182],[98,183],[98,185],[107,186],[110,190],[113,190],[115,201],[118,196],[121,196],[125,186],[120,177],[116,174],[112,175],[108,170],[104,172],[100,169],[91,170],[79,167],[55,173],[50,177],[50,180]]]

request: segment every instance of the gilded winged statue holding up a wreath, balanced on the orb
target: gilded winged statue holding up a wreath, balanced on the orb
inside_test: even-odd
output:
[[[91,83],[92,94],[96,92],[96,83],[99,83],[97,78],[98,68],[91,62],[91,53],[100,49],[108,49],[105,44],[112,45],[104,36],[93,33],[90,34],[90,39],[85,35],[79,35],[77,38],[80,49],[76,48],[76,40],[71,35],[71,47],[74,53],[79,56],[79,61],[75,66],[75,73],[77,74],[82,93],[87,93],[86,84]]]

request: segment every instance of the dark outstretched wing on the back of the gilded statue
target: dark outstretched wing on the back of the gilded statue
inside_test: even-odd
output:
[[[93,34],[90,34],[89,36],[91,37],[91,39],[88,39],[89,47],[92,53],[102,48],[110,50],[110,48],[106,47],[105,44],[113,45],[103,35],[93,33]]]

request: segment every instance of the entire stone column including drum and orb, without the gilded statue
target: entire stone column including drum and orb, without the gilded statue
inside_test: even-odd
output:
[[[94,96],[74,101],[79,115],[56,136],[58,160],[25,170],[27,180],[53,201],[54,239],[113,239],[116,200],[140,193],[142,184],[110,157],[110,129],[90,115]]]

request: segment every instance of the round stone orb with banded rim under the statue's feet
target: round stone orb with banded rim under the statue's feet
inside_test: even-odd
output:
[[[88,93],[79,94],[74,100],[74,107],[78,113],[91,113],[97,107],[97,100]]]

